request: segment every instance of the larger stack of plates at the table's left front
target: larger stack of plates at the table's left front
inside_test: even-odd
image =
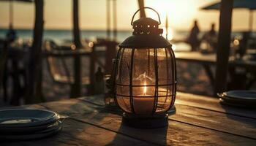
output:
[[[60,116],[48,110],[0,110],[0,139],[38,139],[57,134]]]

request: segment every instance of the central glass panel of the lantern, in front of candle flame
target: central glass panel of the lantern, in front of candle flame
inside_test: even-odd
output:
[[[136,114],[151,114],[154,111],[156,75],[155,49],[135,49],[132,69],[132,98]],[[143,107],[143,108],[142,108]]]

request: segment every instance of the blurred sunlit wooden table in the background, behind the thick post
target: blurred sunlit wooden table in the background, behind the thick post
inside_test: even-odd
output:
[[[217,55],[216,54],[203,54],[199,52],[176,52],[176,60],[184,61],[187,63],[196,63],[203,66],[212,87],[214,87],[214,73],[211,71],[211,66],[216,65]],[[234,57],[229,59],[230,72],[234,73],[234,68],[240,67],[247,69],[250,72],[256,72],[256,61],[247,60],[236,60]]]

